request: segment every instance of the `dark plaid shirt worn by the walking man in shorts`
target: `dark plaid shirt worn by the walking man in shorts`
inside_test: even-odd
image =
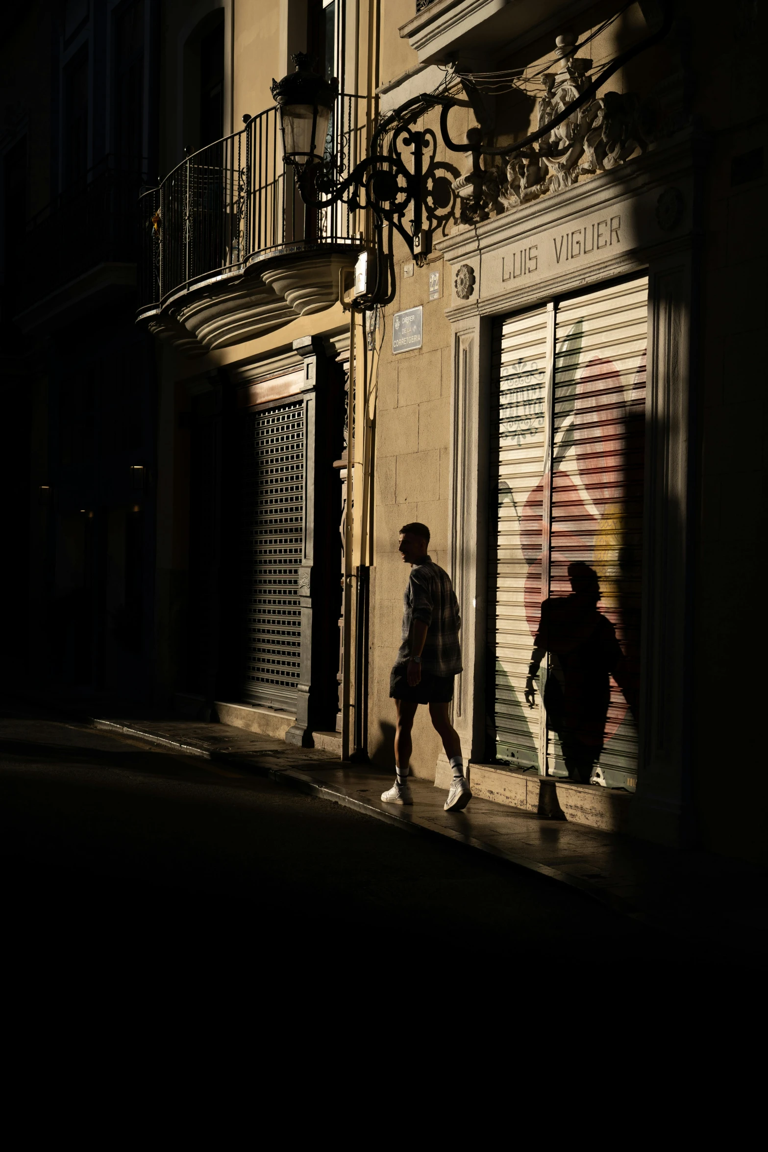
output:
[[[458,600],[448,573],[433,564],[428,556],[424,563],[411,567],[403,608],[403,643],[397,653],[397,664],[405,664],[411,659],[413,621],[420,620],[427,626],[427,638],[421,652],[423,670],[433,676],[456,676],[462,670]]]

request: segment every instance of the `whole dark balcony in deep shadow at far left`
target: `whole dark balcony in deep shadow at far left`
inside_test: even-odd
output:
[[[28,222],[16,313],[22,331],[66,324],[94,298],[104,302],[105,293],[134,293],[138,169],[107,156]]]

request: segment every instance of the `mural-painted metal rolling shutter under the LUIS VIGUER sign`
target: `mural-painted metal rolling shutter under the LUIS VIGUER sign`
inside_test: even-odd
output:
[[[628,698],[637,706],[647,280],[558,303],[554,366],[548,316],[552,309],[509,318],[494,348],[499,500],[489,639],[496,655],[496,755],[540,767],[546,744],[549,772],[568,774],[557,736],[547,734],[540,695],[530,710],[523,692],[541,601],[570,593],[568,566],[580,560],[598,575],[600,611],[623,653],[622,689],[611,677],[595,775],[632,788],[638,743]],[[547,667],[545,661],[540,685]]]

